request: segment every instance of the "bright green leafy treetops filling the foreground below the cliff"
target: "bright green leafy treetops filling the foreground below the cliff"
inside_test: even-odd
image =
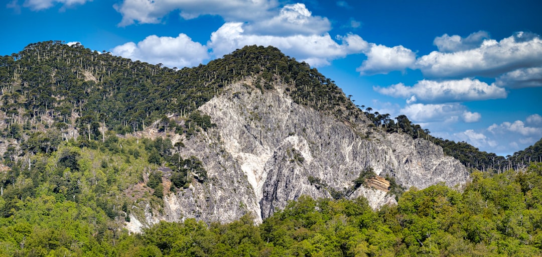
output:
[[[363,198],[301,196],[259,225],[250,215],[225,224],[187,219],[141,234],[128,234],[99,197],[74,201],[41,183],[0,217],[0,256],[540,256],[542,165],[472,177],[462,192],[411,188],[378,211]]]

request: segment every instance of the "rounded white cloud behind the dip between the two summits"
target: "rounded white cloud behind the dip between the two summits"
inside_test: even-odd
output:
[[[112,49],[114,55],[145,61],[153,64],[162,63],[167,67],[190,67],[209,59],[206,46],[194,42],[185,34],[177,37],[147,36],[135,44],[128,42]]]

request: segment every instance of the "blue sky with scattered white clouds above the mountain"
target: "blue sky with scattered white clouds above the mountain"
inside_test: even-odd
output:
[[[357,105],[511,155],[542,138],[539,1],[8,0],[0,54],[80,42],[192,67],[273,45]]]

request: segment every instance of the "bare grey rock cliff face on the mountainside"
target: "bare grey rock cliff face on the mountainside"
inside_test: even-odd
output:
[[[379,208],[395,202],[382,188],[383,177],[420,189],[469,178],[458,160],[427,140],[382,132],[364,120],[338,120],[296,104],[282,85],[260,90],[252,82],[228,85],[201,106],[216,127],[184,140],[181,155],[201,159],[208,181],[164,196],[162,214],[148,211],[145,221],[132,217],[130,229],[184,218],[230,222],[249,213],[261,222],[301,195],[363,196]],[[373,184],[380,188],[355,187],[354,180],[369,168],[379,176]]]

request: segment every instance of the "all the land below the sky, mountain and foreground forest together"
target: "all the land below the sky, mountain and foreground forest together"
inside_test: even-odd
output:
[[[0,89],[0,256],[542,249],[540,142],[432,137],[274,47],[177,70],[40,42]]]

